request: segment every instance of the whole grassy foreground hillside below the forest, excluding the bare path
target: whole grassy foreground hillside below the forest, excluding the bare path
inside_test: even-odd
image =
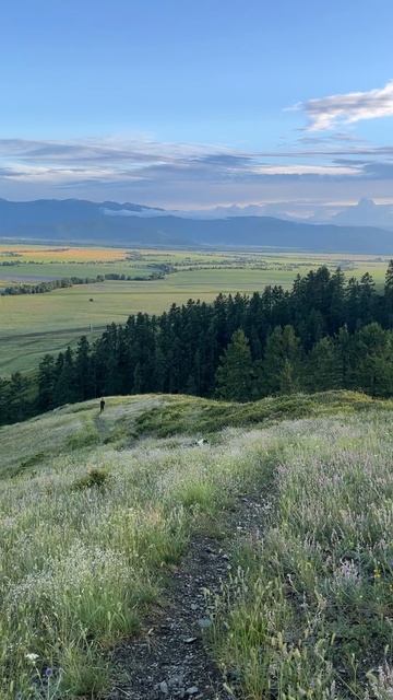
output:
[[[254,700],[389,698],[392,419],[349,393],[144,396],[0,429],[0,697],[104,692],[190,538],[253,492],[266,527],[231,538],[217,662]]]

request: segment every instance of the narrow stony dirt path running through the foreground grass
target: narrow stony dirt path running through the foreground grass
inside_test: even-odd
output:
[[[230,571],[236,535],[259,536],[263,508],[257,497],[239,498],[228,514],[229,537],[195,538],[174,574],[163,615],[116,654],[116,678],[108,700],[233,700],[204,643],[210,627],[205,591],[219,593]]]

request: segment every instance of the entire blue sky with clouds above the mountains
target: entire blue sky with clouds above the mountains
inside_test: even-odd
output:
[[[0,198],[393,203],[391,0],[13,0]]]

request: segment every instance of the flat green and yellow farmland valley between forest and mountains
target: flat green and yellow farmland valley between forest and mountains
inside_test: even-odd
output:
[[[0,376],[37,366],[86,334],[139,311],[160,313],[188,299],[219,292],[252,293],[266,284],[290,287],[310,268],[338,265],[347,276],[373,275],[383,283],[386,257],[277,252],[130,250],[126,248],[0,245],[0,291],[21,283],[123,275],[130,280],[57,289],[44,294],[0,294]],[[162,279],[148,279],[162,275]]]

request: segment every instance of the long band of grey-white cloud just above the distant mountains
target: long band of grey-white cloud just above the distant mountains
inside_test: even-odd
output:
[[[324,135],[322,135],[324,136]],[[326,135],[329,137],[329,135]],[[0,139],[0,197],[72,196],[194,208],[310,197],[388,196],[393,147],[334,139],[242,150],[152,138]],[[317,206],[317,205],[315,205]]]

